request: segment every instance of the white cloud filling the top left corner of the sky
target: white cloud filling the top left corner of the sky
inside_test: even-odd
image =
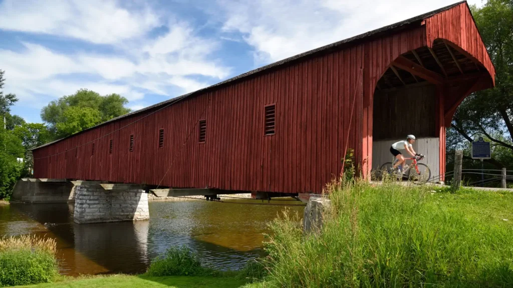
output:
[[[0,29],[117,43],[160,25],[148,8],[128,11],[114,0],[4,0]]]

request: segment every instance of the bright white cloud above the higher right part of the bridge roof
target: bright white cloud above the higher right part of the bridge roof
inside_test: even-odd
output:
[[[219,0],[218,4],[223,30],[243,33],[245,42],[254,47],[257,64],[262,65],[458,1]]]

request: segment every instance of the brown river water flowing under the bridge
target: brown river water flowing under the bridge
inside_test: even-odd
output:
[[[230,202],[262,203],[230,199]],[[301,204],[271,201],[274,204]],[[61,273],[143,273],[151,259],[173,245],[188,245],[203,264],[237,270],[263,254],[267,223],[284,209],[304,207],[191,200],[150,202],[150,220],[76,224],[73,204],[0,205],[0,237],[36,234],[55,238]]]

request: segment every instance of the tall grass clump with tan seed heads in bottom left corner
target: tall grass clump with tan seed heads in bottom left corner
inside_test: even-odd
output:
[[[50,282],[58,276],[54,239],[20,236],[0,239],[0,286]]]

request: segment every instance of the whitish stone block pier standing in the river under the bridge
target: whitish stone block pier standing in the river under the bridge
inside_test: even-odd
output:
[[[139,187],[105,190],[99,181],[73,181],[76,185],[75,223],[139,221],[150,218],[148,194]]]

